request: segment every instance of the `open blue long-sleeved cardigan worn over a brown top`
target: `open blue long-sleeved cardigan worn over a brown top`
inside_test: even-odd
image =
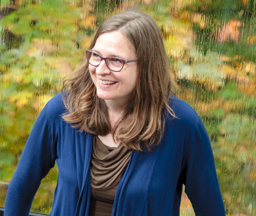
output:
[[[152,152],[133,151],[116,190],[112,216],[177,216],[182,185],[196,216],[225,216],[209,137],[196,112],[175,97],[165,134]],[[52,216],[86,216],[91,191],[93,136],[61,117],[61,94],[41,111],[7,190],[5,216],[28,215],[41,180],[57,162],[58,185]]]

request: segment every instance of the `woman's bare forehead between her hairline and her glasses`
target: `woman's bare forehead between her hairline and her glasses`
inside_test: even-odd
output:
[[[104,56],[136,57],[134,45],[127,36],[119,31],[101,34],[96,40],[93,50]]]

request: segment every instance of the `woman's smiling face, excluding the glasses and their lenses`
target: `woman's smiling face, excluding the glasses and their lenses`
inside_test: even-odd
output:
[[[102,57],[137,59],[135,47],[119,31],[101,34],[91,50]],[[102,60],[98,67],[89,64],[89,72],[100,99],[119,106],[129,102],[137,80],[137,62],[125,63],[120,72],[112,72]]]

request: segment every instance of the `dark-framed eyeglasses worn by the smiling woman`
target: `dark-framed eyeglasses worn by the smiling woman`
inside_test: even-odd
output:
[[[86,58],[89,64],[93,65],[94,67],[98,67],[98,65],[100,65],[102,60],[105,60],[108,69],[111,70],[112,72],[120,72],[123,69],[123,65],[125,65],[125,63],[131,63],[131,62],[137,61],[137,59],[124,60],[116,57],[102,57],[98,53],[94,53],[91,50],[86,51]]]

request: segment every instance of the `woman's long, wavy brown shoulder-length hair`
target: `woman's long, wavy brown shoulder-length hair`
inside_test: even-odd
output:
[[[150,150],[156,146],[165,127],[165,111],[175,117],[168,105],[175,94],[163,38],[154,20],[143,13],[127,11],[108,18],[100,25],[89,49],[104,32],[118,30],[134,45],[137,54],[137,83],[133,99],[122,117],[111,128],[108,109],[98,98],[85,59],[72,78],[64,80],[62,98],[68,113],[63,119],[81,131],[94,135],[112,133],[127,148]]]

